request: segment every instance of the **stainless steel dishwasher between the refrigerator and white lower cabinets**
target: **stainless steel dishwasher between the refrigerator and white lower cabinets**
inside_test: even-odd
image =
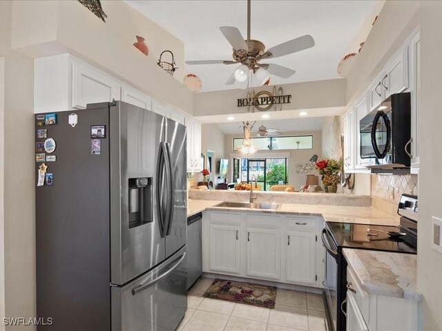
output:
[[[202,274],[202,212],[187,218],[187,289]]]

